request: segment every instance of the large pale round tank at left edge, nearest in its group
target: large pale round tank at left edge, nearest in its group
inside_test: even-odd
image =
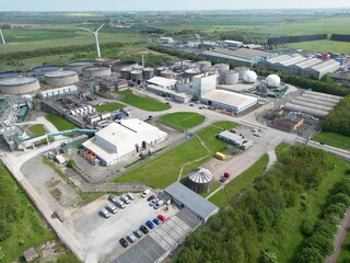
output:
[[[0,81],[0,91],[3,94],[25,94],[38,89],[40,89],[40,84],[36,78],[14,78]]]

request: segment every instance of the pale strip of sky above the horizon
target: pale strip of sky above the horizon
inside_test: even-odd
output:
[[[162,11],[350,8],[349,0],[0,0],[0,11]]]

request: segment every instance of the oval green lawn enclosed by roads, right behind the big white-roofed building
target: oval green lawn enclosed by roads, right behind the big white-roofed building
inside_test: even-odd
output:
[[[205,118],[206,117],[203,115],[198,113],[178,112],[166,114],[160,119],[165,124],[170,123],[171,125],[175,125],[180,129],[189,129],[205,122]]]

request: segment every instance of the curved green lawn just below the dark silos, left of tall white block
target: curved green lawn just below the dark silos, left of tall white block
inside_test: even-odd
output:
[[[125,98],[121,100],[122,102],[144,111],[160,112],[171,108],[171,106],[165,103],[149,98],[136,95],[132,93],[131,90],[121,91],[121,93],[125,95]]]

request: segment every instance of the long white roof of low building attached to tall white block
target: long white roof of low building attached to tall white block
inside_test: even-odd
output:
[[[257,103],[258,99],[225,90],[211,90],[201,96],[208,101],[214,101],[237,108],[243,108],[252,103]]]

